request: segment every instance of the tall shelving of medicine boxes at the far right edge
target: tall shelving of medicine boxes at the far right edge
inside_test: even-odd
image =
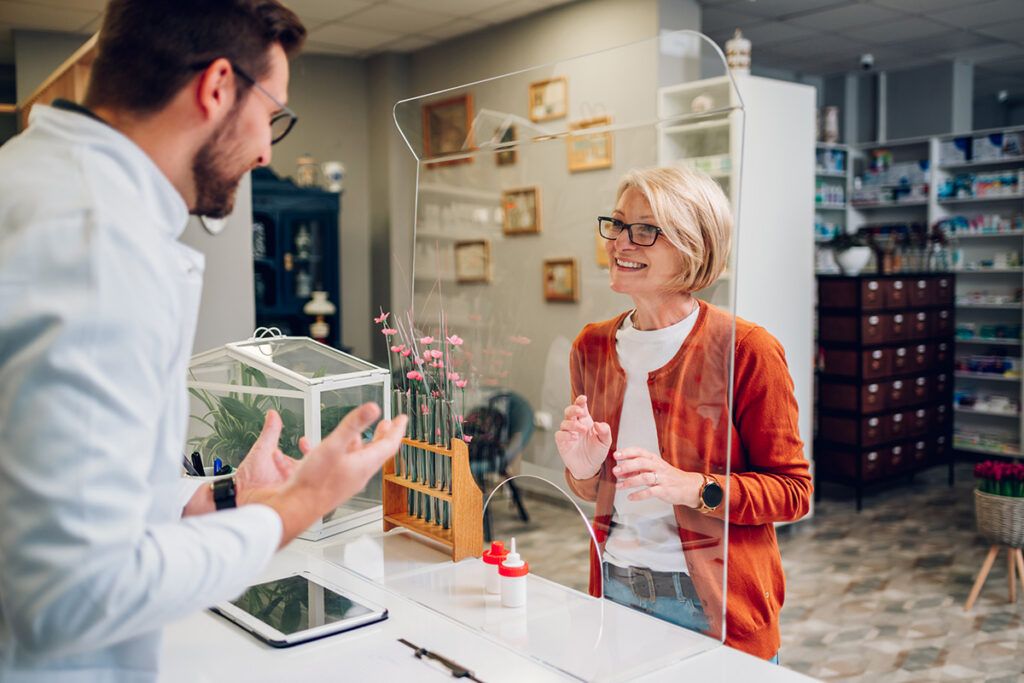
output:
[[[1021,169],[1024,169],[1024,154],[1021,142],[1024,141],[1024,127],[990,129],[974,131],[962,135],[941,135],[932,138],[930,158],[932,164],[932,190],[929,198],[929,224],[938,221],[964,216],[969,220],[979,215],[998,215],[1005,222],[1002,232],[963,232],[950,234],[956,250],[961,254],[961,263],[977,263],[981,260],[995,261],[996,253],[1014,253],[1024,255],[1024,230],[1017,229],[1014,218],[1021,214],[1022,179]],[[943,198],[940,194],[948,194],[949,188],[943,187],[947,181],[952,181],[957,175],[984,175],[991,172],[993,176],[1000,175],[1012,180],[1016,170],[1017,186],[1008,183],[1002,191],[1006,195],[968,198]],[[991,224],[991,221],[986,221]],[[949,233],[947,233],[949,234]],[[984,238],[984,239],[982,239]],[[956,311],[955,321],[958,329],[971,326],[979,329],[981,326],[1007,325],[1018,327],[1024,323],[1024,306],[1019,301],[1019,291],[1024,287],[1024,272],[1019,267],[1001,268],[959,268],[956,271]],[[974,295],[974,296],[972,296]],[[985,303],[985,298],[1007,303]],[[973,301],[972,299],[980,299]],[[980,329],[978,330],[980,333]],[[994,348],[1006,349],[1008,354],[1020,355],[1020,339],[986,340],[981,337],[958,339],[957,350],[963,355],[983,351],[979,345],[988,344]],[[1020,378],[985,376],[976,373],[954,373],[954,389],[970,390],[976,387],[998,393],[1009,393],[1022,404],[1024,399],[1024,384]],[[993,420],[999,424],[999,431],[990,431]],[[1021,457],[1020,442],[1024,433],[1022,416],[998,417],[986,413],[956,411],[953,423],[956,434],[953,447],[959,451],[983,454]],[[1009,423],[1009,424],[1007,424]],[[974,442],[979,435],[983,445]],[[994,447],[993,447],[994,446]]]

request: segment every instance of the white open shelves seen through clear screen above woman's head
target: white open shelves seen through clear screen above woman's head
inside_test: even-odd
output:
[[[694,112],[694,98],[711,98],[705,112]],[[729,199],[738,172],[734,152],[739,148],[741,127],[728,110],[738,102],[729,77],[721,76],[691,83],[681,83],[657,92],[657,158],[668,166],[685,163],[710,175]]]

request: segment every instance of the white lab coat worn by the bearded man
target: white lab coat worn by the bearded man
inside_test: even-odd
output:
[[[131,140],[33,109],[0,148],[0,681],[151,681],[161,628],[239,594],[270,508],[181,519],[203,257]]]

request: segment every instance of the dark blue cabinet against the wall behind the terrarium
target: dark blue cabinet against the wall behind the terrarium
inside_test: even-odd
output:
[[[256,325],[286,335],[308,336],[312,318],[302,312],[323,290],[337,311],[328,343],[341,348],[338,220],[341,196],[299,187],[272,171],[253,171],[253,273]]]

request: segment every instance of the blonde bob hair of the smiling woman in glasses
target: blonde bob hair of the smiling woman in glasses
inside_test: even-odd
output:
[[[732,245],[732,210],[718,183],[685,166],[637,169],[618,183],[616,204],[631,187],[647,200],[662,239],[679,250],[679,274],[666,289],[696,292],[718,280]]]

